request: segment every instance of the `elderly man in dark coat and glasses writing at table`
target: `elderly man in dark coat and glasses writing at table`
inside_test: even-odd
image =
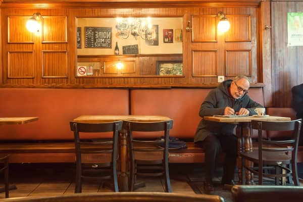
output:
[[[248,96],[249,80],[239,75],[234,80],[223,81],[218,88],[213,89],[199,111],[199,116],[213,115],[255,115],[255,108],[263,108]],[[222,184],[233,184],[234,170],[237,158],[237,138],[233,134],[235,124],[217,123],[201,120],[194,142],[205,149],[205,182],[204,191],[214,192],[212,179],[214,177],[218,157],[221,151],[226,154],[223,165]]]

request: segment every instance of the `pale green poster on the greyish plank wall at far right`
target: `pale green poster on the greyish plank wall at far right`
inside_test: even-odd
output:
[[[303,45],[303,13],[287,13],[288,46]]]

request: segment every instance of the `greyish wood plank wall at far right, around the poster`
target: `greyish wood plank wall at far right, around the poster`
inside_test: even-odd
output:
[[[303,2],[272,2],[273,106],[290,107],[291,88],[303,83],[303,46],[287,46],[287,12],[303,12]]]

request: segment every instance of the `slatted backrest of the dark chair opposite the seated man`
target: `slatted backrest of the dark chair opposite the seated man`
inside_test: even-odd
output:
[[[258,130],[259,141],[259,160],[262,159],[263,151],[288,152],[292,151],[292,157],[297,156],[298,140],[301,128],[301,119],[293,121],[258,121],[252,120],[252,129]],[[262,131],[292,131],[291,137],[284,140],[265,140],[262,137]],[[272,146],[271,146],[272,145]]]

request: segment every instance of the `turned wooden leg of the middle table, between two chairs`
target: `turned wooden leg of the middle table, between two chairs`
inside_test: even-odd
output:
[[[120,131],[121,146],[120,146],[120,169],[119,191],[128,191],[128,175],[127,175],[127,132]]]

